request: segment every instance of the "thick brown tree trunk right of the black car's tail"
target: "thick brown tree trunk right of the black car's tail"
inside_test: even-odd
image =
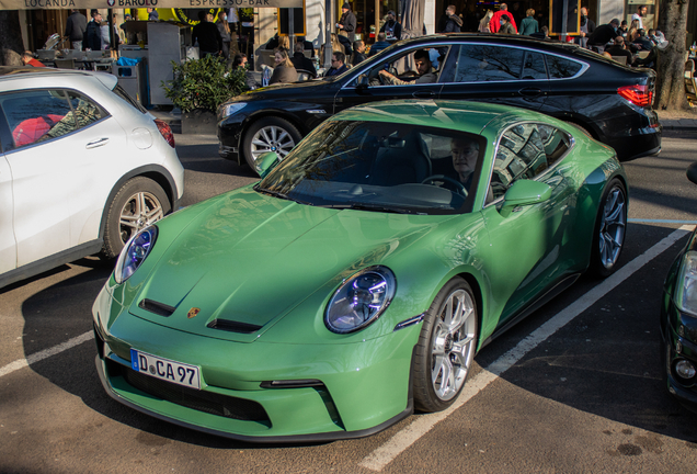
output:
[[[659,29],[669,46],[659,53],[654,109],[689,109],[685,98],[685,41],[687,33],[687,0],[661,2]]]

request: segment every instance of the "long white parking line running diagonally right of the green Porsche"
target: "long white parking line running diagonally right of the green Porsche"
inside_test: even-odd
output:
[[[418,416],[408,427],[396,433],[385,444],[365,456],[363,461],[358,463],[358,465],[372,471],[381,471],[401,452],[407,450],[421,437],[427,433],[431,428],[433,428],[438,421],[444,420],[455,410],[469,402],[475,395],[484,390],[487,385],[495,381],[499,375],[511,369],[511,366],[519,361],[526,353],[535,349],[548,337],[557,332],[573,318],[591,307],[595,302],[597,302],[617,285],[631,276],[631,274],[639,270],[641,267],[669,249],[681,237],[685,236],[685,234],[693,232],[694,228],[695,226],[682,226],[679,229],[673,232],[671,235],[651,247],[649,250],[627,263],[625,267],[617,270],[617,272],[614,273],[612,276],[607,278],[602,283],[598,283],[586,294],[567,306],[564,309],[562,309],[560,313],[558,313],[551,319],[540,326],[537,330],[532,332],[528,337],[518,342],[516,347],[500,357],[498,360],[491,363],[491,365],[483,369],[475,379],[468,381],[458,399],[447,410],[431,415]]]

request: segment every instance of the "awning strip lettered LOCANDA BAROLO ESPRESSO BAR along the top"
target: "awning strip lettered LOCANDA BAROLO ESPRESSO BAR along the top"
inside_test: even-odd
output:
[[[126,8],[301,8],[302,0],[0,0],[0,10]]]

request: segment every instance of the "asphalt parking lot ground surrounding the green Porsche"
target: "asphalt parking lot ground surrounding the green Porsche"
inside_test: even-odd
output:
[[[253,181],[215,137],[178,135],[183,205]],[[685,178],[697,133],[626,163],[622,268],[571,289],[485,347],[455,409],[370,438],[252,445],[140,415],[94,369],[91,306],[111,269],[94,259],[0,290],[0,473],[694,472],[697,416],[662,384],[659,300],[697,224]],[[369,403],[370,400],[365,400]]]

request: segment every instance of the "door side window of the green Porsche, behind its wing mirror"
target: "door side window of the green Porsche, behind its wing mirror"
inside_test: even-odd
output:
[[[490,201],[501,198],[518,179],[534,179],[549,167],[545,144],[536,124],[522,124],[504,132],[491,177]]]

